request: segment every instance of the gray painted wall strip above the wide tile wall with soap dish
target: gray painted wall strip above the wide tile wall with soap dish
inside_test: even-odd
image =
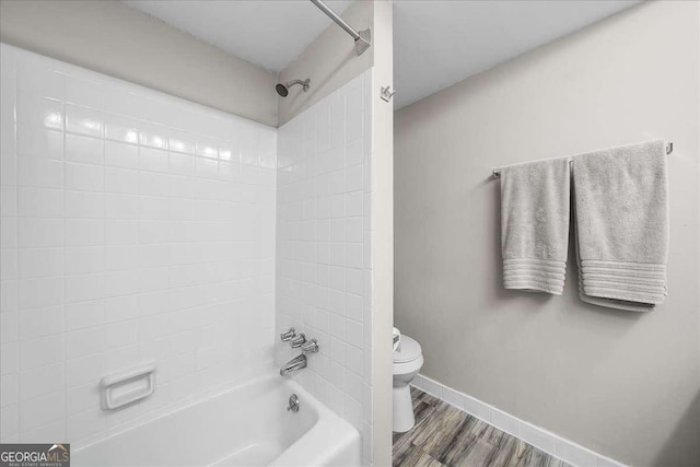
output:
[[[0,40],[277,126],[277,77],[114,0],[0,2]]]

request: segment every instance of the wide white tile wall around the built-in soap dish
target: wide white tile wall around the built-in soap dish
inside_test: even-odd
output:
[[[277,130],[1,47],[2,442],[269,367]],[[155,395],[102,411],[100,378],[143,361]]]

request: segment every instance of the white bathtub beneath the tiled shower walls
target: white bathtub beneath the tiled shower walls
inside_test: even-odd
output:
[[[296,413],[287,410],[292,394]],[[74,466],[361,464],[358,430],[277,373],[77,447]]]

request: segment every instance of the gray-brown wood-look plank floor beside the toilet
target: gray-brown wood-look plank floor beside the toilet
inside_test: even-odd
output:
[[[411,398],[416,427],[394,433],[394,466],[570,467],[422,390]]]

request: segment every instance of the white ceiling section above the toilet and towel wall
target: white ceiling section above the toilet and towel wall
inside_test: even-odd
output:
[[[638,2],[395,1],[395,108]]]

